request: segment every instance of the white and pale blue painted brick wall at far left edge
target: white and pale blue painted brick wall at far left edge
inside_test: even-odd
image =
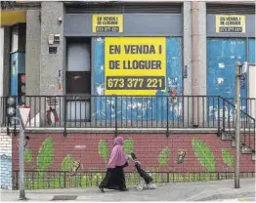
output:
[[[12,188],[12,137],[0,133],[1,188]]]

